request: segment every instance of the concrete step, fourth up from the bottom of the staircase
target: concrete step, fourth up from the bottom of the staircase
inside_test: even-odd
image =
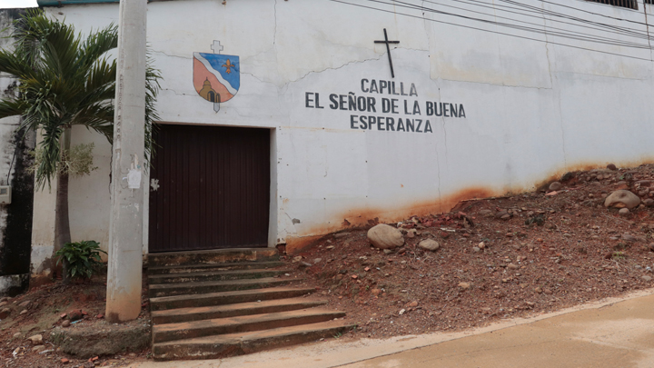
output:
[[[176,295],[150,298],[152,311],[163,311],[174,308],[203,307],[231,303],[247,303],[265,300],[295,298],[315,292],[312,288],[271,287],[265,289],[249,289],[221,293],[202,293],[194,295]]]

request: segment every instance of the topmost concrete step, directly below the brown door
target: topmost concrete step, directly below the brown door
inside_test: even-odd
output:
[[[216,249],[209,251],[148,254],[148,266],[154,267],[271,261],[279,261],[279,252],[276,248]]]

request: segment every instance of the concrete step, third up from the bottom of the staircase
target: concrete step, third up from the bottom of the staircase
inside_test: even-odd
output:
[[[153,311],[152,322],[154,324],[181,323],[235,317],[239,315],[288,312],[298,309],[312,308],[325,303],[327,302],[324,300],[290,298],[205,307],[168,309],[165,311]]]

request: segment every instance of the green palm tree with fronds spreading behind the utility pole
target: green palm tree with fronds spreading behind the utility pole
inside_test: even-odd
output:
[[[21,129],[41,132],[35,150],[35,185],[57,178],[54,250],[71,242],[68,217],[68,173],[63,159],[70,150],[71,128],[84,125],[111,143],[114,138],[116,62],[107,52],[118,45],[118,29],[109,25],[85,38],[73,25],[48,18],[40,9],[18,19],[12,34],[14,51],[0,50],[0,72],[18,79],[18,95],[0,100],[0,118],[19,115]],[[149,64],[149,63],[148,63]],[[152,122],[159,72],[146,75],[146,158],[152,152]]]

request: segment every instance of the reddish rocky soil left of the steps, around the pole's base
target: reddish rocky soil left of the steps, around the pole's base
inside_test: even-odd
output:
[[[147,304],[131,324],[107,323],[104,320],[105,281],[105,276],[69,285],[58,281],[15,298],[0,297],[0,367],[124,366],[147,359],[149,348],[82,358],[64,353],[55,343],[62,331],[131,331],[133,327],[149,324]],[[92,343],[93,338],[89,338],[84,345]],[[84,346],[79,348],[80,352],[84,351]]]

